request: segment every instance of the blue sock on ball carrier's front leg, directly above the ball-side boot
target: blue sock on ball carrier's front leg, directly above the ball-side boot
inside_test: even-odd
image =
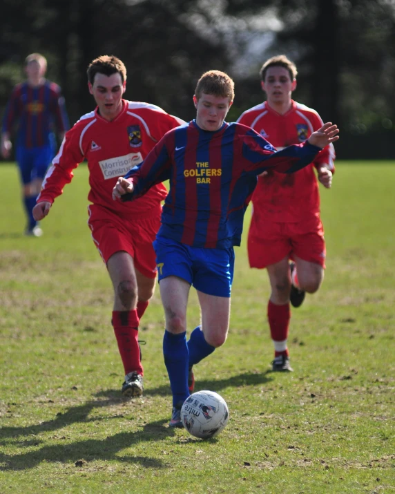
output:
[[[180,401],[184,403],[189,397],[189,352],[186,345],[186,332],[173,334],[167,330],[164,331],[163,356],[173,393],[173,406],[177,406]]]

